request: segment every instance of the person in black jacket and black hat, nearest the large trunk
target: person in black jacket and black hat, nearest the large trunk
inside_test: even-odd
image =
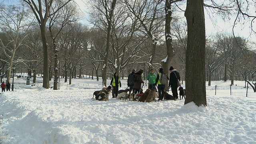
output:
[[[172,95],[175,98],[175,100],[178,100],[178,80],[180,80],[180,73],[177,72],[176,69],[174,69],[172,66],[170,67],[170,81],[168,88],[172,88]]]

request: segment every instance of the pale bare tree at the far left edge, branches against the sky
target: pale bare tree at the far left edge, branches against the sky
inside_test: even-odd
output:
[[[6,78],[10,81],[12,65],[24,60],[15,58],[16,50],[23,44],[22,42],[29,34],[29,28],[32,21],[29,21],[29,15],[24,7],[8,6],[0,9],[0,30],[6,34],[9,42],[5,43],[0,38],[0,48],[6,56],[6,59],[1,59],[8,64]]]

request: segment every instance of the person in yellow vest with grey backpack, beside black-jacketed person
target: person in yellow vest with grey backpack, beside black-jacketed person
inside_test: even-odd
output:
[[[165,84],[166,82],[168,83],[168,76],[164,73],[164,70],[163,68],[160,68],[159,69],[159,72],[156,76],[156,82],[155,82],[155,85],[158,84],[158,95],[159,95],[159,98],[158,98],[158,101],[159,100],[163,100],[164,98],[164,88],[165,88]]]

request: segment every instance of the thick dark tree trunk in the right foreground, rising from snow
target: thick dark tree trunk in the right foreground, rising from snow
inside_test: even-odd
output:
[[[204,0],[187,0],[185,16],[188,24],[185,104],[194,102],[197,106],[207,106]]]

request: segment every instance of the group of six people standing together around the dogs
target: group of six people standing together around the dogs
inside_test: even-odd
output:
[[[174,96],[175,99],[178,99],[177,80],[180,80],[180,74],[172,66],[170,67],[169,70],[170,70],[170,78],[167,77],[169,80],[168,89],[171,88],[172,95]],[[144,70],[142,70],[142,69],[140,69],[138,72],[136,72],[136,70],[133,69],[132,72],[129,74],[128,80],[127,80],[127,86],[129,87],[129,95],[131,92],[134,94],[139,94],[141,92],[141,90],[144,86],[144,83],[145,83],[142,79],[143,72],[144,72]],[[151,69],[150,73],[146,76],[146,80],[148,80],[148,83],[149,83],[148,88],[150,90],[152,90],[152,88],[154,88],[156,86],[158,88],[158,94],[159,94],[158,101],[163,100],[163,98],[164,98],[165,84],[162,84],[160,81],[162,74],[165,74],[163,68],[159,69],[159,72],[157,75],[154,74],[154,70]],[[133,79],[132,82],[129,80],[130,77]],[[122,86],[117,72],[115,72],[114,75],[112,76],[110,85],[113,86],[112,98],[116,98],[118,95],[118,87]]]

